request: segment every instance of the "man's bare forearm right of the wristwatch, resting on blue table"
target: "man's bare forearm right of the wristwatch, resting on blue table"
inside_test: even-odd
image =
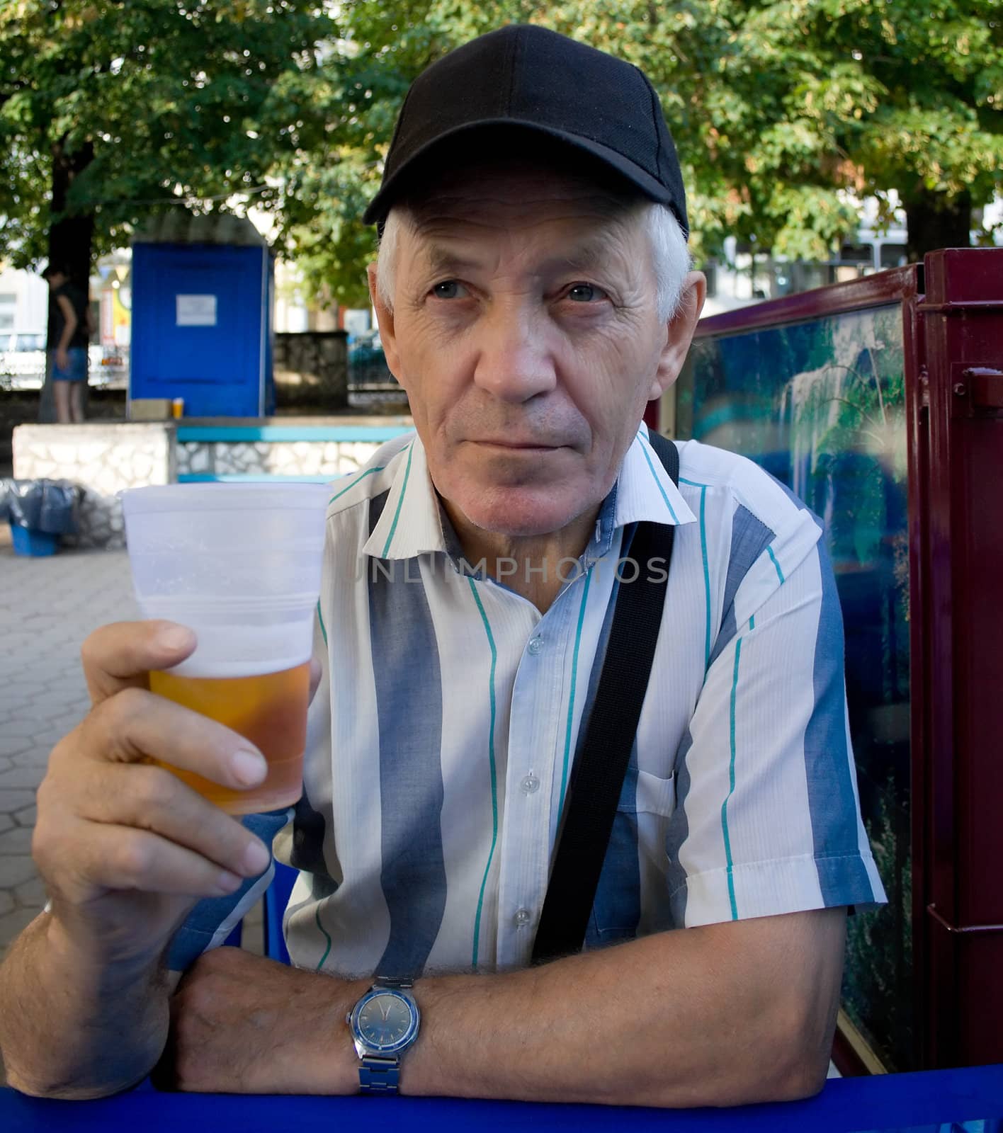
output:
[[[720,961],[707,932],[419,981],[422,1034],[401,1089],[670,1107],[817,1091],[834,1015],[824,996],[792,987],[782,954],[765,971],[762,955],[751,971],[741,957]]]

